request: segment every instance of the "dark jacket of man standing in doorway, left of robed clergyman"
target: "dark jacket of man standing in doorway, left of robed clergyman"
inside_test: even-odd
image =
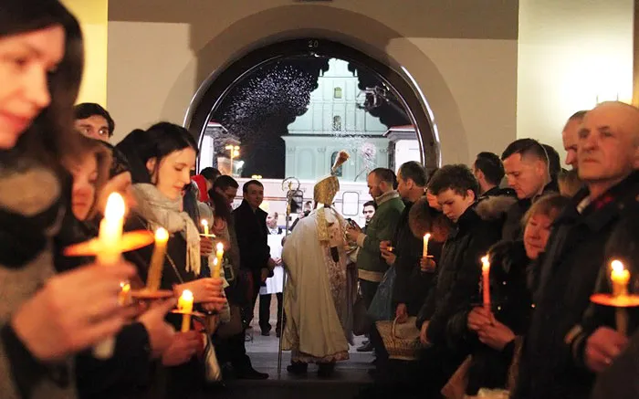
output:
[[[240,268],[259,273],[267,268],[270,248],[267,244],[267,213],[257,208],[255,212],[246,200],[233,211],[237,245],[240,253]]]

